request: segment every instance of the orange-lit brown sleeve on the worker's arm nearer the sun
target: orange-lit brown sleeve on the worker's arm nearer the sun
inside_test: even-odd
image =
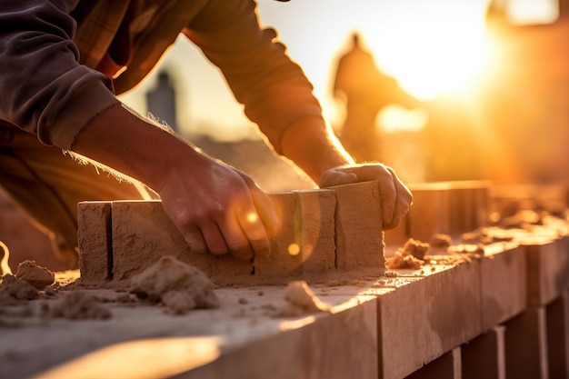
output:
[[[217,65],[245,115],[276,152],[287,126],[305,116],[322,117],[313,86],[286,55],[273,29],[263,29],[253,0],[211,0],[185,30]]]

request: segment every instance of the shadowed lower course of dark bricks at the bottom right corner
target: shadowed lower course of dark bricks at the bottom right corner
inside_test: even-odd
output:
[[[569,290],[455,347],[407,379],[569,377]]]

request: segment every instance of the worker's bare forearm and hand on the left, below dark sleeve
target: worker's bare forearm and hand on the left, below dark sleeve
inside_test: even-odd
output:
[[[154,189],[193,251],[266,254],[278,225],[270,198],[248,176],[132,114],[106,109],[75,138],[72,150]]]

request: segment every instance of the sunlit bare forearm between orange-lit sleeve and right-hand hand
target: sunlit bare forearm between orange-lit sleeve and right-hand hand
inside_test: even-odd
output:
[[[280,145],[283,155],[315,183],[326,170],[354,164],[354,158],[344,150],[322,117],[307,116],[296,121],[286,128]]]

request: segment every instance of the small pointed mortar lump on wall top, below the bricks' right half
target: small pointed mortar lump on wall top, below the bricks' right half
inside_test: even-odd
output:
[[[331,309],[330,304],[320,300],[304,280],[287,284],[284,288],[284,300],[286,304],[279,315],[285,317],[330,312]]]

